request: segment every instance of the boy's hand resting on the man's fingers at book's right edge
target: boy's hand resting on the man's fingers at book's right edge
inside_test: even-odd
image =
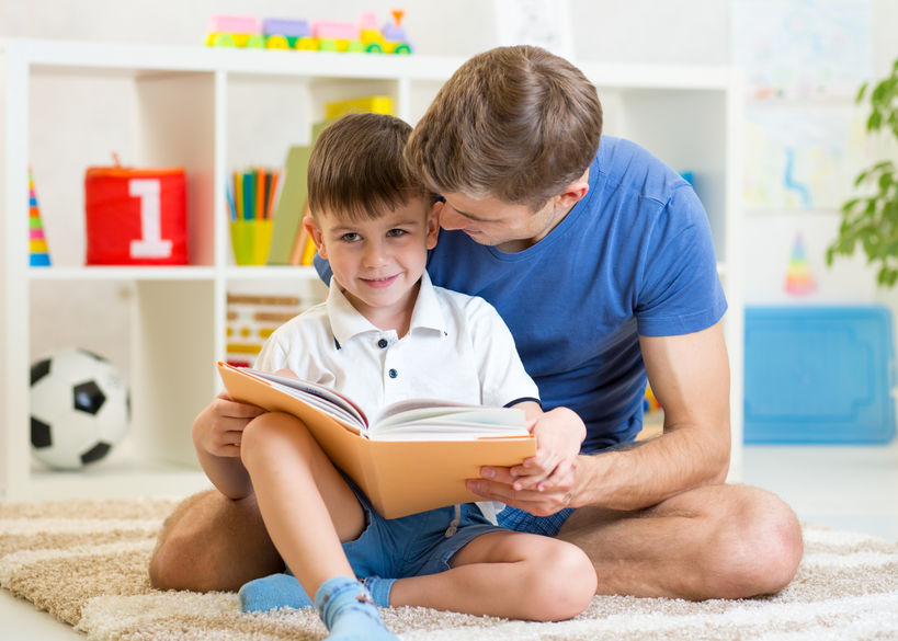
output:
[[[576,412],[556,408],[535,417],[530,431],[536,436],[536,456],[509,470],[512,489],[536,490],[569,487],[587,427]]]

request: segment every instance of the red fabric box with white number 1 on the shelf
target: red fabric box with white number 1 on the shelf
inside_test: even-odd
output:
[[[185,265],[186,193],[182,168],[88,168],[87,264]]]

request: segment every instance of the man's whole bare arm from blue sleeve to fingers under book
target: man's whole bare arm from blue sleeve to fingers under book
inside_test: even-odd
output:
[[[510,470],[484,468],[469,482],[486,499],[537,515],[594,505],[639,510],[726,479],[729,466],[729,363],[718,322],[681,336],[641,337],[651,389],[664,408],[664,433],[635,447],[580,456],[570,484],[516,491]]]

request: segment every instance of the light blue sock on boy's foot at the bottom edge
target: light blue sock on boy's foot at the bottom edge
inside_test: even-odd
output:
[[[365,587],[350,576],[334,576],[315,594],[315,607],[331,641],[398,641],[387,630]]]

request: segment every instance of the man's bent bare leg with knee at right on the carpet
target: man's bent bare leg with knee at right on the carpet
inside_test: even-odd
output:
[[[744,485],[705,485],[635,513],[583,507],[558,538],[592,559],[599,594],[694,600],[777,592],[804,549],[795,513]]]

